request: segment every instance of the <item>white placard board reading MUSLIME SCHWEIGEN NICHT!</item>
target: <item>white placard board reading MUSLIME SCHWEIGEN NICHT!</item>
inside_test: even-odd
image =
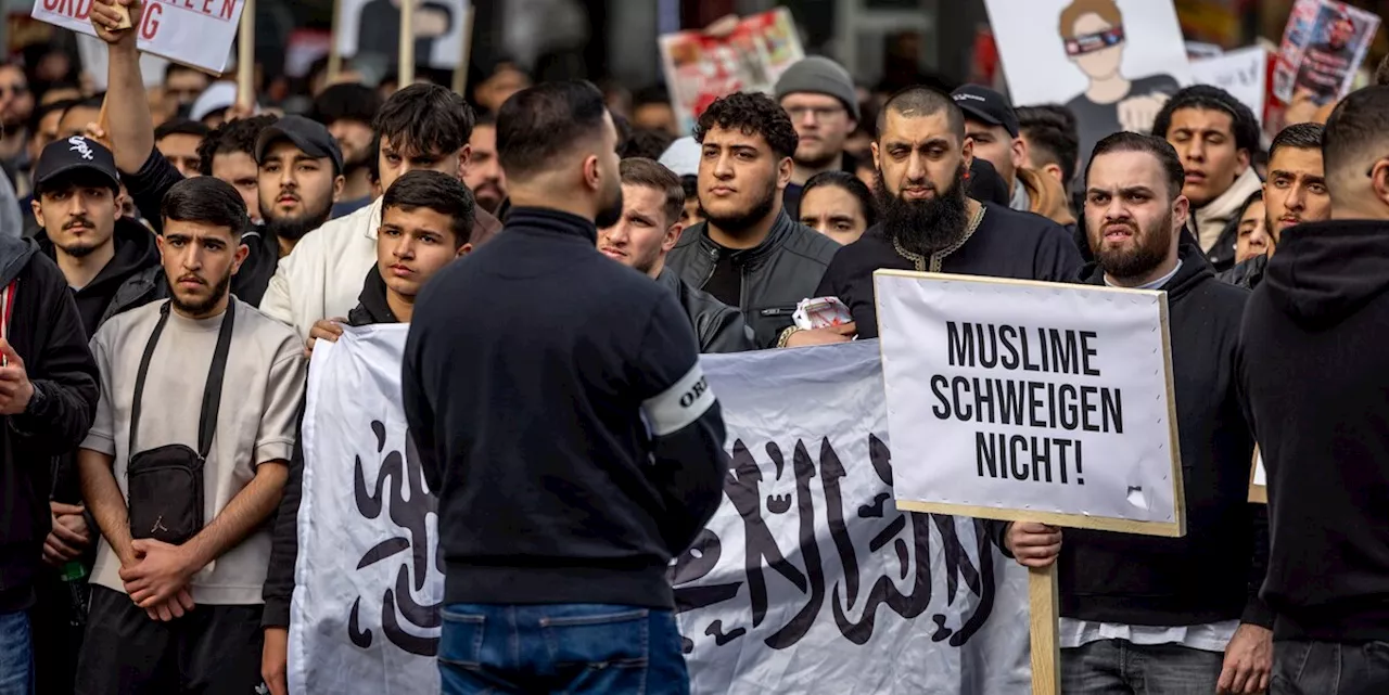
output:
[[[1181,533],[1164,293],[874,283],[899,504]]]

